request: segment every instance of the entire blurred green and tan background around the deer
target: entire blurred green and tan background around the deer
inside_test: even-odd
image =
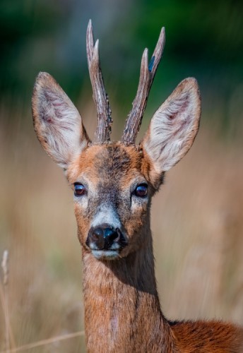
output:
[[[1,0],[0,254],[10,253],[12,346],[83,330],[72,193],[37,142],[30,100],[37,73],[51,73],[92,136],[89,18],[100,39],[114,139],[136,94],[143,49],[152,54],[162,25],[165,52],[140,136],[177,83],[197,78],[201,129],[153,202],[158,289],[169,318],[243,324],[242,10],[232,0]],[[1,302],[2,350],[4,332]],[[85,352],[84,337],[28,352]]]

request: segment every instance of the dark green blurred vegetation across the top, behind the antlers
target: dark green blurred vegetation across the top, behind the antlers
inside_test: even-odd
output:
[[[218,104],[223,122],[241,119],[242,13],[242,1],[233,0],[2,0],[1,102],[11,107],[21,100],[30,107],[38,71],[51,73],[77,102],[84,88],[90,90],[85,28],[92,18],[107,91],[121,115],[126,115],[136,93],[143,49],[148,47],[152,54],[164,25],[165,54],[148,112],[179,80],[195,76],[203,109]]]

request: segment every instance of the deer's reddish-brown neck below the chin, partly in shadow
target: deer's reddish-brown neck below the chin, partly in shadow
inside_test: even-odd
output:
[[[148,236],[149,235],[149,236]],[[83,251],[88,352],[170,352],[170,327],[160,310],[152,237],[118,261]]]

